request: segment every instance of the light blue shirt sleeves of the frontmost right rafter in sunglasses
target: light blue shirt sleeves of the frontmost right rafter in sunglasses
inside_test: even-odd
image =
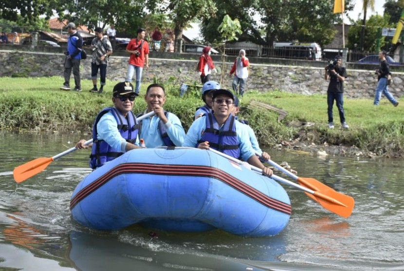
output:
[[[247,161],[251,156],[255,155],[253,146],[251,145],[250,137],[248,135],[247,126],[239,121],[234,122],[236,125],[237,139],[239,140],[240,156],[244,161]],[[220,127],[222,130],[224,125]],[[198,140],[202,138],[202,134],[206,129],[206,116],[201,116],[196,119],[188,133],[186,133],[183,147],[195,148]]]

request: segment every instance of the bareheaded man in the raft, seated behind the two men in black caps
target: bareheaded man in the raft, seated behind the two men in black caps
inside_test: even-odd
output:
[[[154,111],[155,116],[147,117],[139,123],[139,138],[145,140],[147,148],[161,146],[181,147],[185,131],[178,116],[163,109],[165,104],[165,88],[160,84],[147,87],[145,101],[147,109],[143,114]]]

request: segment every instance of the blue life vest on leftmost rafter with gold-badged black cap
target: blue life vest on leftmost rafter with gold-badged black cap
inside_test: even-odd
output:
[[[126,139],[129,143],[134,144],[136,141],[136,137],[138,135],[138,125],[136,122],[136,117],[132,111],[130,111],[127,117],[123,116],[121,112],[119,112],[115,107],[107,107],[101,110],[98,113],[98,116],[95,118],[94,124],[92,126],[92,150],[90,155],[90,167],[95,169],[97,167],[101,167],[106,162],[115,159],[116,157],[123,155],[124,153],[121,150],[113,149],[107,142],[102,139],[97,139],[97,124],[100,121],[101,117],[104,114],[112,112],[113,116],[118,123],[119,133],[123,138]]]

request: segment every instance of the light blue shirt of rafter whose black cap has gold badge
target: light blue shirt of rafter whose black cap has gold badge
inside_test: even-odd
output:
[[[112,148],[121,150],[126,153],[126,145],[128,142],[121,136],[118,131],[118,123],[112,112],[105,113],[97,123],[97,138],[103,139]],[[139,136],[136,138],[136,145],[139,146]]]

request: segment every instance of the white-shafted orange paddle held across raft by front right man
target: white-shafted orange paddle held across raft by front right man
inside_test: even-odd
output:
[[[236,159],[232,156],[225,155],[225,154],[220,153],[213,149],[209,149],[209,151],[214,152],[215,154],[221,155],[233,162],[241,163],[241,161],[239,159]],[[255,167],[255,166],[252,166],[252,165],[250,165],[250,167],[253,171],[262,174],[261,169]],[[276,176],[275,174],[273,174],[271,176],[271,178],[273,178],[276,181],[287,184],[289,186],[292,186],[294,188],[297,188],[301,191],[304,191],[307,194],[310,194],[318,203],[321,204],[321,206],[323,206],[325,209],[327,209],[333,213],[339,214],[343,217],[349,217],[349,215],[352,213],[353,206],[355,205],[354,199],[350,196],[336,192],[335,190],[333,190],[332,188],[330,188],[324,184],[322,184],[322,186],[320,186],[320,187],[313,186],[313,188],[315,189],[315,191],[313,191],[310,188],[298,185],[294,182],[291,182],[289,180]]]

